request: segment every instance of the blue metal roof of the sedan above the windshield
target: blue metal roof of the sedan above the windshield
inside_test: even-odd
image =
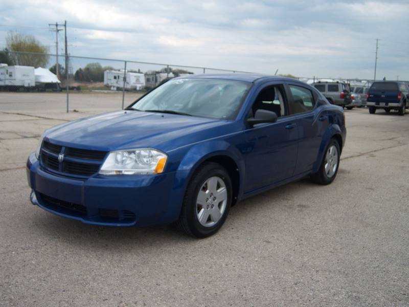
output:
[[[177,77],[180,79],[186,78],[206,78],[206,79],[224,79],[224,80],[234,80],[234,81],[246,81],[246,82],[255,82],[255,81],[298,81],[297,79],[287,78],[283,76],[270,76],[263,74],[243,74],[243,73],[234,73],[234,74],[199,74],[199,75],[189,75],[183,77]]]

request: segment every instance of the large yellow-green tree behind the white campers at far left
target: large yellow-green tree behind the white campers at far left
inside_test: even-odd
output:
[[[17,65],[46,67],[49,56],[48,48],[32,35],[9,32],[6,37],[7,49],[16,52],[32,52],[35,54],[11,53],[12,61]]]

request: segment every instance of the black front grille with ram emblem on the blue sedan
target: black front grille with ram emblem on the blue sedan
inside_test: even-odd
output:
[[[65,147],[43,141],[41,165],[54,171],[62,171],[74,176],[89,177],[98,172],[106,151]],[[60,162],[58,156],[64,155]]]

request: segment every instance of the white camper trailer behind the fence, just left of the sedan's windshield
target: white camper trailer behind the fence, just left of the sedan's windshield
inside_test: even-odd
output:
[[[111,90],[123,89],[125,75],[125,90],[142,90],[145,87],[145,75],[124,71],[105,71],[104,85]]]

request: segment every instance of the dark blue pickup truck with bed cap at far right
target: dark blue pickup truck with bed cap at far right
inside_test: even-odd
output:
[[[409,107],[408,102],[409,89],[404,82],[400,81],[376,81],[367,94],[370,114],[382,108],[388,113],[395,109],[399,115],[405,115],[405,109]]]

